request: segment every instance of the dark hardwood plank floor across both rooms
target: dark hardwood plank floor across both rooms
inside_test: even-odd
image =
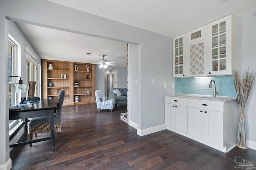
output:
[[[136,129],[120,121],[123,112],[126,106],[113,112],[98,111],[96,104],[63,106],[56,152],[51,141],[15,147],[10,151],[12,170],[234,170],[240,169],[235,168],[237,156],[256,164],[253,149],[235,147],[223,153],[168,130],[140,137]],[[38,138],[49,135],[39,133]],[[24,140],[28,135],[20,139]]]

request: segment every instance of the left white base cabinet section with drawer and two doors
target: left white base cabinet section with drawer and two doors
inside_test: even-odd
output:
[[[188,133],[188,100],[165,97],[165,125],[167,128]]]

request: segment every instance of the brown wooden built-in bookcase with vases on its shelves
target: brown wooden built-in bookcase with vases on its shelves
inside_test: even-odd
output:
[[[48,69],[49,64],[53,69]],[[78,70],[74,70],[75,64]],[[77,81],[79,86],[74,85]],[[58,98],[60,89],[66,90],[63,105],[95,103],[95,64],[42,60],[42,98]],[[76,96],[79,102],[75,102]]]

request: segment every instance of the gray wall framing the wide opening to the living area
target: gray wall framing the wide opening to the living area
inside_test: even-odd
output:
[[[173,89],[172,78],[172,38],[144,29],[94,16],[86,12],[60,6],[46,0],[8,0],[1,1],[0,6],[0,73],[5,75],[5,81],[0,82],[0,93],[6,98],[0,99],[2,109],[0,117],[0,164],[9,160],[8,136],[8,81],[7,81],[7,35],[8,16],[10,20],[32,23],[84,35],[122,41],[129,44],[140,45],[138,57],[138,94],[130,95],[129,100],[140,104],[136,114],[141,117],[138,121],[139,129],[146,129],[164,124],[164,94],[171,93]],[[104,27],[102,27],[104,23]],[[131,56],[132,57],[132,56]],[[154,63],[154,64],[152,64]],[[132,66],[132,65],[131,65]],[[155,84],[151,84],[155,78]],[[168,88],[164,89],[163,82]],[[138,96],[140,96],[138,98]],[[132,105],[130,107],[133,107]],[[135,106],[136,107],[136,106]],[[130,113],[130,115],[133,113]]]

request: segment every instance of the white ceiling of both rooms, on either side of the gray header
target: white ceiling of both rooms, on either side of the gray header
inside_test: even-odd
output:
[[[256,0],[48,0],[169,37],[229,14],[256,11]],[[98,63],[101,55],[126,66],[126,43],[17,23],[42,59]],[[86,53],[92,53],[86,55]]]

